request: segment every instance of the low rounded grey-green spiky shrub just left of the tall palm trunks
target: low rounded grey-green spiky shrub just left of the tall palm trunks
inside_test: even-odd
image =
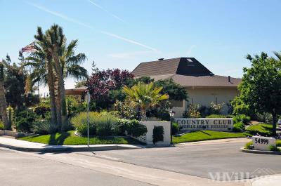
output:
[[[58,126],[51,121],[39,121],[34,124],[33,131],[38,134],[52,134],[58,131]]]

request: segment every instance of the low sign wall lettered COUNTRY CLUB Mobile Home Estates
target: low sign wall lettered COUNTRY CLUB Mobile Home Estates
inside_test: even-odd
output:
[[[232,118],[175,118],[182,131],[233,131]]]

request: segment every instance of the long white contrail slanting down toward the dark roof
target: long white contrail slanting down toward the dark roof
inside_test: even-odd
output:
[[[27,2],[27,4],[29,4],[29,5],[31,5],[31,6],[34,6],[35,8],[38,8],[38,9],[40,9],[41,11],[44,11],[44,12],[46,12],[46,13],[50,13],[50,14],[52,14],[52,15],[55,15],[55,16],[59,17],[59,18],[62,18],[62,19],[64,19],[64,20],[67,20],[67,21],[69,21],[69,22],[74,22],[74,23],[77,24],[77,25],[81,25],[81,26],[83,26],[83,27],[87,27],[87,28],[92,29],[92,30],[97,30],[97,29],[95,29],[94,27],[92,27],[91,25],[86,25],[84,22],[80,22],[79,20],[76,20],[76,19],[74,19],[74,18],[70,18],[70,17],[68,17],[67,15],[63,15],[62,13],[58,13],[58,12],[55,12],[55,11],[51,11],[51,10],[49,10],[48,8],[45,8],[44,6],[39,6],[39,5],[37,5],[37,4],[32,4],[32,3],[30,3],[30,2]],[[138,46],[142,46],[142,47],[148,48],[148,49],[150,49],[150,50],[152,50],[152,51],[158,51],[156,48],[152,48],[152,47],[150,47],[150,46],[147,46],[147,45],[145,45],[145,44],[141,44],[141,43],[139,43],[139,42],[137,42],[137,41],[133,41],[133,40],[131,40],[131,39],[126,39],[126,38],[124,38],[124,37],[122,37],[122,36],[119,36],[119,35],[117,35],[117,34],[113,34],[113,33],[106,32],[106,31],[99,31],[99,32],[102,33],[102,34],[105,34],[105,35],[107,35],[107,36],[111,36],[111,37],[113,37],[113,38],[115,38],[115,39],[120,39],[120,40],[122,40],[122,41],[126,41],[127,43],[130,43],[130,44],[135,44],[135,45],[138,45]]]

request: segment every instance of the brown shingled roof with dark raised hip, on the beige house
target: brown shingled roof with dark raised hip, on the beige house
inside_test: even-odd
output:
[[[233,87],[240,84],[241,79],[215,76],[195,58],[173,58],[142,62],[132,72],[135,77],[151,77],[159,79],[173,79],[185,87]]]

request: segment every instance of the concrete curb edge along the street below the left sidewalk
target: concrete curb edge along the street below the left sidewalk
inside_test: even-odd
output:
[[[89,152],[103,150],[133,150],[141,149],[141,145],[46,145],[46,147],[19,147],[14,145],[0,144],[0,147],[5,147],[11,150],[19,150],[23,152]]]

